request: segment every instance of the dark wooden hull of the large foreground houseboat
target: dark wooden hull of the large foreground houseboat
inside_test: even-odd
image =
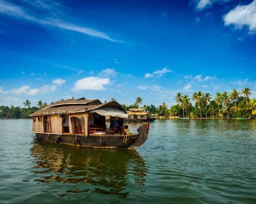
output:
[[[53,142],[58,144],[75,145],[81,147],[137,149],[147,140],[148,136],[148,131],[145,124],[138,127],[137,131],[138,134],[131,134],[129,136],[115,134],[89,135],[87,137],[82,135],[56,135],[51,133],[35,133],[34,139],[38,142]]]

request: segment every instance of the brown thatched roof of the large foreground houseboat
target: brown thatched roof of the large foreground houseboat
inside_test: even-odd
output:
[[[118,104],[116,101],[110,101],[102,104],[98,99],[68,99],[63,101],[56,101],[54,104],[49,105],[42,110],[36,111],[35,113],[32,113],[30,116],[83,113],[102,107],[113,107],[119,110],[123,110],[121,105]]]

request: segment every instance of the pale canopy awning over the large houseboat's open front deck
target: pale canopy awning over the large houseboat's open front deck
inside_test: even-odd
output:
[[[117,118],[128,118],[128,114],[126,114],[124,111],[119,110],[117,108],[112,108],[112,107],[102,107],[102,108],[90,111],[90,113],[97,113],[102,116],[112,116]]]

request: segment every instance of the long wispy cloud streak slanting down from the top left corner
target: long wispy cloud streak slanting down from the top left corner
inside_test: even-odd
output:
[[[112,42],[120,42],[118,40],[112,39],[105,33],[62,20],[59,17],[48,17],[46,19],[42,19],[40,17],[33,16],[27,13],[27,11],[25,11],[22,7],[4,1],[0,1],[0,13],[13,17],[23,18],[41,25],[50,25],[52,27],[60,28],[63,30],[78,32],[92,37],[103,38]]]

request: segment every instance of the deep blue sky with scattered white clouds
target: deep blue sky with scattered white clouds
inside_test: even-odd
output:
[[[0,105],[256,97],[256,0],[0,0]]]

